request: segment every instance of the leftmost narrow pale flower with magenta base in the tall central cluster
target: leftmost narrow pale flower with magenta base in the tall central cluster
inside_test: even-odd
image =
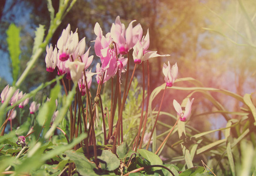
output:
[[[58,63],[57,48],[55,47],[54,50],[52,51],[52,46],[50,45],[50,48],[49,48],[49,46],[47,45],[46,52],[47,52],[45,56],[46,70],[47,72],[53,72]]]

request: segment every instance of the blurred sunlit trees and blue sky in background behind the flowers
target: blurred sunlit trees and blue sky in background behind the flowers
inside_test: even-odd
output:
[[[58,11],[58,0],[53,0],[55,12]],[[70,23],[71,30],[78,28],[79,39],[86,36],[87,49],[91,46],[90,55],[94,55],[94,25],[100,23],[103,35],[110,32],[111,24],[120,16],[122,23],[128,24],[136,19],[143,27],[143,35],[147,29],[150,34],[149,50],[157,50],[159,54],[170,54],[170,57],[158,57],[150,60],[150,92],[164,83],[162,66],[170,61],[171,65],[178,63],[179,78],[193,77],[205,87],[227,89],[243,96],[253,93],[256,88],[256,1],[235,0],[77,0],[73,9],[65,16],[63,22],[51,39],[56,45],[61,32]],[[245,9],[247,15],[242,12]],[[249,22],[251,21],[251,22]],[[50,15],[46,0],[2,0],[0,7],[0,90],[6,84],[12,84],[11,60],[6,42],[6,29],[15,23],[21,29],[21,67],[19,73],[26,67],[32,53],[34,31],[38,25],[45,25],[47,32]],[[134,23],[134,25],[136,25]],[[38,60],[28,78],[20,87],[24,92],[37,87],[39,84],[53,79],[56,75],[46,72],[45,54]],[[100,62],[94,56],[95,65]],[[133,69],[133,60],[130,60]],[[139,84],[142,84],[142,67],[136,71]],[[96,79],[94,79],[96,85]],[[175,86],[192,86],[191,84],[176,84]],[[45,89],[42,94],[49,93]],[[190,92],[168,89],[162,110],[172,112],[172,101],[179,103]],[[239,111],[242,104],[219,93],[211,93],[229,111]],[[256,93],[255,93],[256,94]],[[255,101],[255,94],[254,101]],[[37,96],[40,96],[38,94]],[[160,103],[155,102],[155,106]],[[213,105],[202,94],[194,94],[193,114],[200,114],[214,109]],[[153,106],[154,107],[154,106]],[[236,118],[235,116],[233,118]],[[160,120],[173,124],[169,118],[161,116]],[[225,119],[219,114],[198,116],[189,122],[204,131],[225,127]],[[165,128],[162,129],[165,131]],[[221,137],[221,136],[220,136]]]

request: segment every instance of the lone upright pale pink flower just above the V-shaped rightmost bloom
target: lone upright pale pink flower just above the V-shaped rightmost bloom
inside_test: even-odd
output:
[[[172,87],[174,81],[178,77],[178,66],[177,63],[170,68],[170,62],[168,61],[168,66],[163,63],[163,75],[165,75],[165,82],[167,87]]]

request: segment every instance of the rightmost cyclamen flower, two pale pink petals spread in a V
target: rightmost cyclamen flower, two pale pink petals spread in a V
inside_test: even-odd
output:
[[[177,115],[179,116],[180,121],[186,121],[186,119],[188,119],[188,117],[190,116],[190,114],[191,114],[191,106],[192,106],[193,100],[194,99],[192,99],[190,101],[188,99],[188,102],[186,103],[186,107],[185,107],[184,113],[183,113],[183,111],[181,109],[180,104],[176,100],[173,100],[173,106],[174,106],[174,108],[175,108],[175,110],[177,112]]]

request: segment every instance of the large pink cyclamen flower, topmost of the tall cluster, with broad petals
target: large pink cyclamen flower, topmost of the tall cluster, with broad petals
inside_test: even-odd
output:
[[[112,24],[110,33],[111,38],[117,45],[117,53],[125,55],[130,49],[142,38],[142,26],[140,24],[133,27],[133,22],[129,23],[127,29],[120,21],[120,17],[117,16],[115,23]]]

